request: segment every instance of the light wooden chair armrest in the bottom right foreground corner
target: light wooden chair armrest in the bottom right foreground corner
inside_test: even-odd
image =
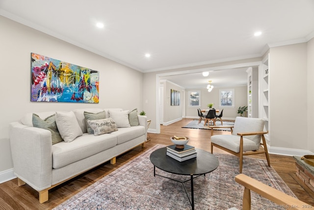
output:
[[[244,174],[239,174],[235,177],[235,181],[244,186],[243,193],[243,210],[251,209],[251,192],[260,194],[262,197],[280,205],[285,209],[309,209],[312,205],[304,203],[292,196],[289,196],[275,188],[272,188],[258,180],[248,177]]]

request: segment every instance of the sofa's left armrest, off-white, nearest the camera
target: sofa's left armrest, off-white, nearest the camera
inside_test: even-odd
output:
[[[14,174],[37,191],[51,186],[52,137],[49,130],[19,122],[9,125]]]

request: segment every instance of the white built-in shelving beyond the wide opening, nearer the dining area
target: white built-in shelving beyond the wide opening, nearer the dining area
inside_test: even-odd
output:
[[[258,118],[259,117],[259,92],[258,82],[259,74],[257,68],[249,67],[247,70],[247,117]]]

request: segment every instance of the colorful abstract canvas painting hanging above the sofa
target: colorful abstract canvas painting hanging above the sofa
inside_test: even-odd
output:
[[[30,101],[99,102],[99,72],[31,54]]]

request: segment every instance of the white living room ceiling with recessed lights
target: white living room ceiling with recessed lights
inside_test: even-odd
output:
[[[141,72],[260,57],[314,37],[314,0],[0,0],[0,15]]]

